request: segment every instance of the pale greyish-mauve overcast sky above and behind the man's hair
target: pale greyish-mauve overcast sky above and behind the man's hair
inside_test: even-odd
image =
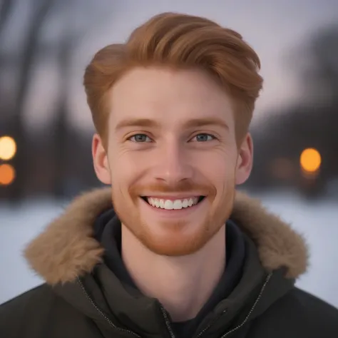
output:
[[[82,2],[83,1],[83,2]],[[81,26],[81,2],[74,12],[74,23]],[[86,0],[91,2],[91,0]],[[28,2],[28,1],[27,1]],[[256,118],[267,114],[270,108],[297,100],[302,88],[292,61],[286,56],[302,46],[310,35],[320,27],[338,21],[337,0],[97,0],[101,16],[95,29],[91,29],[74,53],[71,83],[72,120],[81,128],[91,128],[91,116],[86,106],[82,88],[83,70],[93,53],[109,43],[125,41],[130,32],[150,16],[163,11],[177,11],[208,17],[222,26],[240,32],[255,48],[262,61],[264,91],[257,102]],[[22,2],[22,4],[24,4]],[[93,6],[92,4],[92,6]],[[27,6],[27,5],[26,5]],[[24,8],[24,5],[22,5]],[[93,7],[94,9],[94,7]],[[90,16],[89,16],[90,18]],[[97,20],[96,20],[97,21]],[[82,23],[83,24],[83,23]],[[91,21],[88,21],[88,25]],[[51,22],[46,28],[46,37],[60,29],[59,22]],[[53,79],[57,78],[52,67],[42,67],[36,73],[28,101],[28,120],[46,121],[47,103],[53,101]],[[37,99],[39,98],[39,99]],[[35,123],[34,123],[35,124]]]

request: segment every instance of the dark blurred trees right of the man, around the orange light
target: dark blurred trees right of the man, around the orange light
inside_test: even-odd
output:
[[[304,94],[287,109],[276,108],[278,114],[253,130],[258,151],[250,183],[275,184],[270,170],[274,160],[287,159],[298,168],[302,150],[317,148],[322,155],[319,175],[311,184],[304,184],[302,175],[296,181],[299,189],[314,197],[338,178],[338,26],[317,31],[295,52],[292,61]]]

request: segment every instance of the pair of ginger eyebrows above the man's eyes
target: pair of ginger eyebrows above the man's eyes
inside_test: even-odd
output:
[[[184,123],[184,128],[203,127],[203,126],[220,126],[229,130],[227,123],[221,118],[193,118],[192,120]],[[160,123],[150,118],[128,118],[120,121],[115,130],[121,130],[128,127],[149,127],[149,128],[160,128]]]

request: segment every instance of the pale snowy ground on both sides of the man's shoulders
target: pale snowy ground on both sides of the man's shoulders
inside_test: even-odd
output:
[[[338,307],[337,200],[309,204],[290,193],[259,197],[307,238],[311,266],[297,285]],[[48,200],[24,203],[19,208],[0,205],[0,304],[41,283],[26,267],[21,250],[65,205]]]

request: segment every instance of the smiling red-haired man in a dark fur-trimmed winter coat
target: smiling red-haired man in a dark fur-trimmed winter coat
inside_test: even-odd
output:
[[[338,337],[337,310],[295,287],[302,237],[235,191],[259,68],[240,34],[183,14],[96,53],[84,86],[109,188],[26,248],[46,283],[1,306],[1,337]]]

